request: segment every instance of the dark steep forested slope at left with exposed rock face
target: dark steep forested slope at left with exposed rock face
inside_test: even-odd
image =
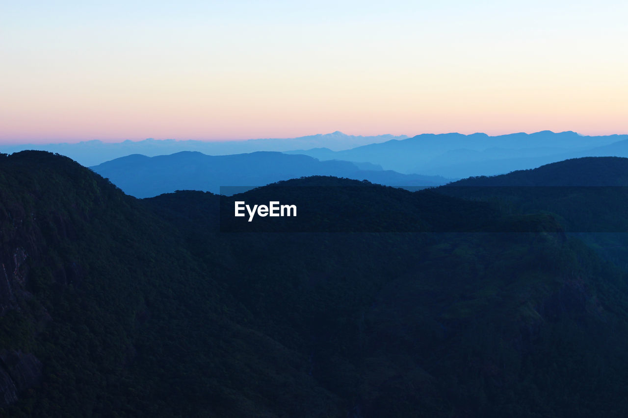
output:
[[[274,402],[333,414],[336,398],[300,370],[306,357],[247,327],[219,273],[138,200],[46,153],[4,156],[0,180],[12,303],[0,348],[43,363],[1,414],[272,415]],[[281,396],[285,384],[295,399]]]

